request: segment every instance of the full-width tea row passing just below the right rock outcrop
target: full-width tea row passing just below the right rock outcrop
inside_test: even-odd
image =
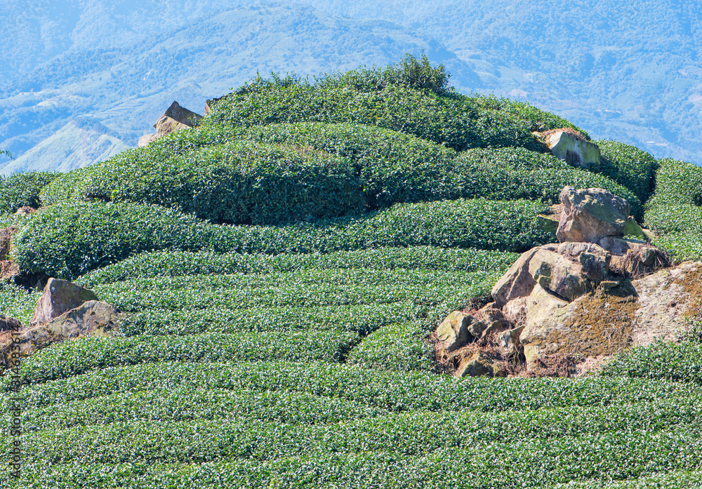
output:
[[[95,344],[105,340],[89,340]],[[80,342],[73,342],[78,344]],[[62,345],[63,348],[67,346]],[[53,349],[52,349],[53,350]],[[116,392],[147,389],[253,389],[256,391],[310,392],[318,396],[358,401],[395,412],[428,411],[527,411],[540,408],[621,406],[642,402],[695,401],[696,384],[647,380],[636,377],[586,377],[582,379],[508,379],[469,377],[456,380],[413,370],[376,370],[327,362],[252,361],[244,363],[160,362],[95,370],[85,375],[52,375],[42,365],[58,361],[47,350],[22,363],[26,382],[22,406],[29,410],[53,403],[79,401]],[[40,371],[41,370],[41,371]],[[41,383],[46,375],[56,378]],[[66,375],[67,374],[67,375]],[[0,391],[11,389],[11,379],[0,378]],[[0,412],[9,408],[0,398]]]

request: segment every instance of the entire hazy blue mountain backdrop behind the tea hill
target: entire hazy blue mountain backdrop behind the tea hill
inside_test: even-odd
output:
[[[3,170],[0,159],[0,172],[84,166],[98,153],[29,150],[58,132],[64,149],[79,134],[133,146],[173,100],[201,112],[256,72],[422,50],[461,91],[527,100],[596,138],[701,163],[701,20],[691,0],[5,0],[0,147],[22,161]]]

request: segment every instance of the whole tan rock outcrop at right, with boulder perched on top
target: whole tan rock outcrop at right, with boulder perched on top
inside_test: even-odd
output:
[[[492,289],[494,302],[453,312],[447,319],[460,317],[460,328],[437,329],[453,331],[437,342],[437,360],[453,375],[583,372],[626,347],[675,339],[700,312],[702,263],[671,268],[662,250],[623,239],[629,205],[609,192],[565,187],[561,195],[562,242],[523,253]]]

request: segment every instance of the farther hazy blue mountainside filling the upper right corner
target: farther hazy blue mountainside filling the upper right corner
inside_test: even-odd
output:
[[[597,138],[702,163],[702,4],[695,0],[310,0],[435,37],[481,87]]]

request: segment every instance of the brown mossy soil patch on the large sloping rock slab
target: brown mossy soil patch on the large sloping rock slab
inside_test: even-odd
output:
[[[634,315],[638,309],[630,283],[607,292],[597,289],[586,296],[565,321],[568,337],[548,338],[563,345],[564,354],[576,356],[614,355],[631,344]]]

